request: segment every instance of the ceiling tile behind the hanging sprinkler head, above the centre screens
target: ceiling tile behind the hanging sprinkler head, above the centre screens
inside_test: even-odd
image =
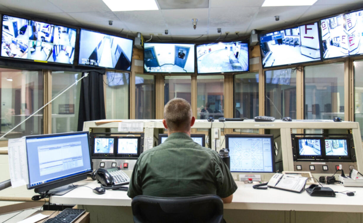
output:
[[[207,27],[208,9],[169,9],[162,10],[168,29],[193,29],[192,18],[197,18],[198,27]]]

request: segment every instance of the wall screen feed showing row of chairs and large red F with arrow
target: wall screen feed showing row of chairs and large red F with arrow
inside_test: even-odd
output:
[[[320,60],[318,23],[261,35],[260,48],[264,68]]]

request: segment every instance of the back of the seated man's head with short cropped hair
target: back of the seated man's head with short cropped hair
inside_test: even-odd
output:
[[[183,98],[171,99],[164,107],[164,119],[170,131],[189,130],[192,107]]]

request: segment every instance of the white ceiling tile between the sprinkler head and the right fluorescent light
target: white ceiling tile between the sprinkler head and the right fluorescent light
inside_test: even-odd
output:
[[[244,30],[257,11],[258,7],[212,8],[209,15],[209,28],[239,28]]]

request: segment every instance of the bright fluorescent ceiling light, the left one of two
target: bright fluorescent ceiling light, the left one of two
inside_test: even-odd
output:
[[[113,12],[159,10],[155,0],[102,0]]]

